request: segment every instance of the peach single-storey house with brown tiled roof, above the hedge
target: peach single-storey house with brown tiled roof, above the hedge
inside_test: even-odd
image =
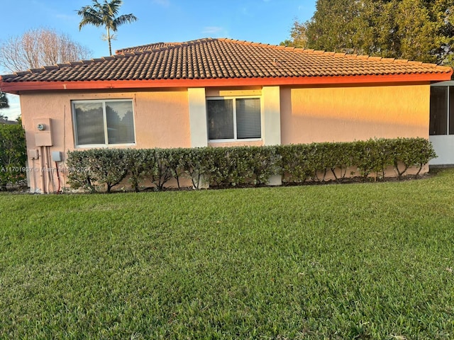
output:
[[[431,85],[452,74],[422,62],[206,38],[4,75],[0,90],[21,98],[31,190],[45,193],[72,149],[429,138]]]

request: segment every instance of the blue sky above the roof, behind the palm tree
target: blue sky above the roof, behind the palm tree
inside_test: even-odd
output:
[[[101,2],[101,1],[99,1]],[[199,38],[232,38],[278,45],[289,38],[294,19],[306,21],[316,0],[123,0],[120,14],[133,13],[138,21],[118,29],[112,50],[151,42],[182,42]],[[52,28],[92,50],[92,57],[109,55],[104,29],[85,26],[79,31],[77,9],[92,0],[2,1],[0,42],[31,28]],[[9,73],[0,69],[0,74]],[[9,96],[10,109],[20,114],[17,96]]]

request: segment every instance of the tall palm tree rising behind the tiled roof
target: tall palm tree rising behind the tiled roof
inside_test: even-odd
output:
[[[132,23],[137,20],[133,14],[117,16],[122,3],[122,0],[104,0],[103,4],[99,4],[97,0],[93,0],[93,6],[84,6],[77,11],[77,14],[82,16],[79,30],[85,25],[104,26],[106,28],[105,38],[109,42],[110,55],[112,55],[111,40],[114,39],[114,34],[111,34],[111,32],[116,32],[118,26],[123,25],[123,23]]]

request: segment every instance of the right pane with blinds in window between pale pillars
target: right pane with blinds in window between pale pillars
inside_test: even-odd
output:
[[[260,138],[260,99],[236,99],[237,138]]]

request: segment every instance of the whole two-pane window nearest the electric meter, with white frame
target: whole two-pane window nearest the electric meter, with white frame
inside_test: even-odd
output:
[[[114,145],[135,142],[133,102],[73,101],[76,145]]]

